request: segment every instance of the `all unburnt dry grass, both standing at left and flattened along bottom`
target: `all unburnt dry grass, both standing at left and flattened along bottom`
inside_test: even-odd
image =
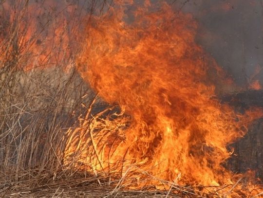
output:
[[[198,193],[196,188],[167,181],[161,181],[170,186],[166,192],[156,191],[152,186],[128,191],[124,187],[134,181],[124,182],[125,175],[100,176],[77,170],[74,164],[65,168],[63,152],[68,141],[67,131],[78,123],[79,116],[86,115],[95,97],[74,69],[78,49],[77,43],[71,41],[77,42],[76,32],[67,31],[67,27],[62,29],[68,34],[71,45],[63,48],[61,43],[55,44],[50,53],[44,54],[45,61],[39,64],[32,49],[40,42],[45,46],[48,38],[41,37],[39,41],[43,29],[25,39],[29,27],[22,24],[29,20],[29,1],[13,1],[10,9],[17,14],[12,22],[10,10],[6,10],[3,3],[0,1],[1,197],[219,197],[216,192],[208,196]],[[88,3],[87,14],[94,11],[95,1]],[[103,3],[100,6],[104,6]],[[55,12],[58,11],[48,12],[50,19],[44,28],[57,20]],[[79,18],[67,20],[70,24]],[[67,55],[54,62],[57,53]],[[99,112],[107,105],[98,100],[94,107],[97,109],[94,112]],[[87,118],[94,119],[90,111],[88,113]],[[152,176],[145,178],[152,179]]]

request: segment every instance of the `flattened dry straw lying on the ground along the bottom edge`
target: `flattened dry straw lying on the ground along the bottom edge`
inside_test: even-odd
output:
[[[145,172],[142,172],[141,174],[147,175]],[[1,175],[1,177],[6,178],[6,175]],[[169,181],[158,180],[153,176],[148,175],[148,180],[158,180],[169,188],[165,191],[157,190],[155,189],[155,186],[149,185],[141,189],[127,190],[127,182],[131,184],[132,181],[124,180],[124,177],[125,176],[121,179],[116,179],[118,176],[114,177],[113,174],[111,174],[110,177],[106,177],[105,175],[94,176],[87,172],[73,173],[65,170],[58,171],[56,175],[54,175],[54,172],[47,170],[42,171],[42,173],[39,174],[38,170],[35,169],[21,175],[19,177],[20,181],[10,180],[9,175],[9,180],[6,179],[4,182],[0,182],[0,195],[6,198],[222,198],[220,191],[225,188],[225,186],[217,186],[217,190],[215,191],[209,190],[211,188],[215,189],[215,186],[181,186]],[[206,188],[209,193],[204,193],[204,188]],[[231,194],[231,191],[229,191],[229,194]]]

